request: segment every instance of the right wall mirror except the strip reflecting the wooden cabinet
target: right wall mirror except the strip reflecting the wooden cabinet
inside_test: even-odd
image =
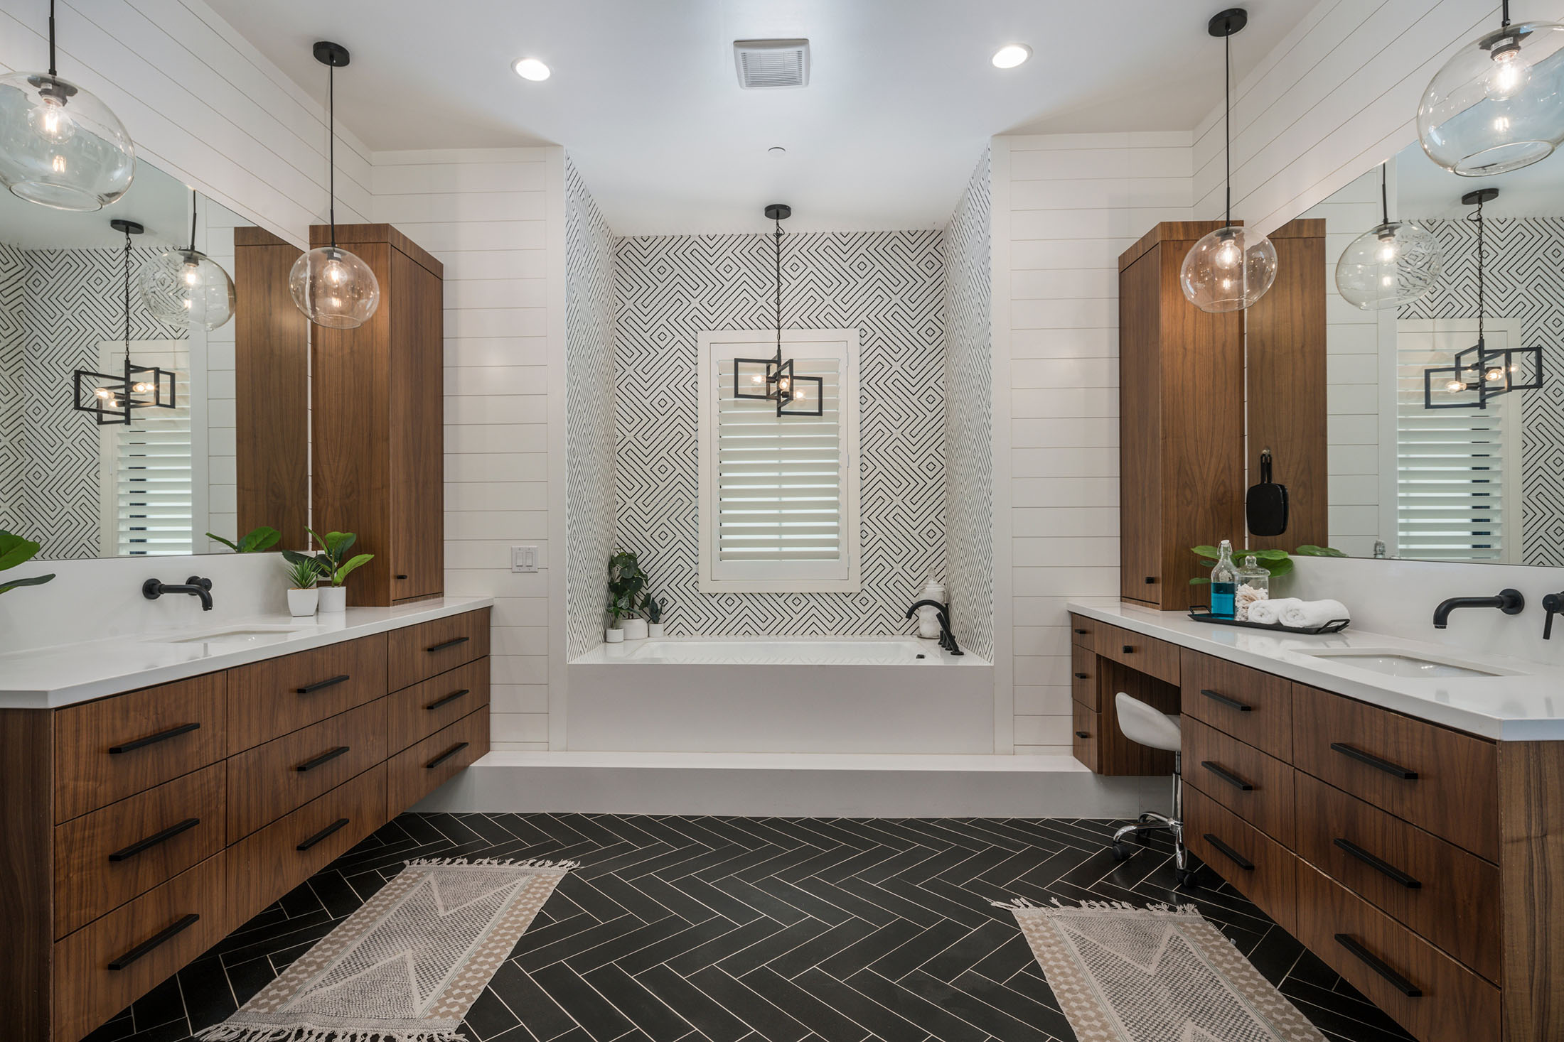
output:
[[[1362,308],[1337,261],[1386,208],[1436,258],[1362,272],[1400,281]],[[1331,545],[1564,566],[1564,159],[1465,178],[1414,142],[1303,216],[1326,222]]]

